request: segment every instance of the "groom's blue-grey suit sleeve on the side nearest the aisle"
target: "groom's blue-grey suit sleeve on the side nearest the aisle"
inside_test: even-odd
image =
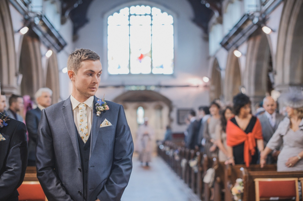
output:
[[[132,170],[134,145],[122,105],[119,109],[114,146],[110,176],[102,191],[97,195],[100,200],[119,201],[128,184]]]

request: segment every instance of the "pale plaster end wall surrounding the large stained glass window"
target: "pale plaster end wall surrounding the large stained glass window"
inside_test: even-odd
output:
[[[107,50],[107,35],[104,30],[104,23],[107,23],[107,19],[104,16],[108,11],[117,7],[118,9],[115,12],[119,11],[123,8],[119,7],[121,4],[130,2],[132,1],[93,1],[87,12],[89,23],[79,30],[79,38],[74,43],[75,48],[89,48],[101,56],[104,74],[100,85],[204,84],[201,79],[208,75],[208,41],[203,39],[203,30],[192,22],[193,10],[186,0],[144,1],[144,3],[150,3],[151,6],[159,4],[161,5],[159,8],[163,11],[171,11],[175,14],[174,75],[107,75],[107,59],[104,59],[104,53]],[[184,131],[186,128],[185,125],[180,126],[176,122],[178,108],[194,108],[197,110],[198,106],[209,103],[208,91],[203,87],[159,89],[157,91],[173,102],[174,108],[171,114],[174,119],[173,131]],[[103,94],[106,94],[107,100],[113,100],[123,92],[124,89],[104,88],[98,90],[97,96],[103,97]]]

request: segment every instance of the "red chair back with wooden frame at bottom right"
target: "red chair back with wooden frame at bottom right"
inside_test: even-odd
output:
[[[299,201],[298,178],[257,178],[255,186],[256,201],[293,197]]]

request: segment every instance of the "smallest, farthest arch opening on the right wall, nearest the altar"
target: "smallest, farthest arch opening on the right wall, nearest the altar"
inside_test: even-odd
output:
[[[222,95],[222,88],[221,88],[221,70],[218,63],[217,58],[215,58],[213,65],[212,65],[212,72],[211,72],[211,86],[210,86],[210,101],[214,99],[220,99]]]

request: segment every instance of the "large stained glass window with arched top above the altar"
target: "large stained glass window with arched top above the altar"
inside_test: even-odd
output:
[[[131,6],[108,18],[108,72],[173,74],[173,17],[156,7]]]

